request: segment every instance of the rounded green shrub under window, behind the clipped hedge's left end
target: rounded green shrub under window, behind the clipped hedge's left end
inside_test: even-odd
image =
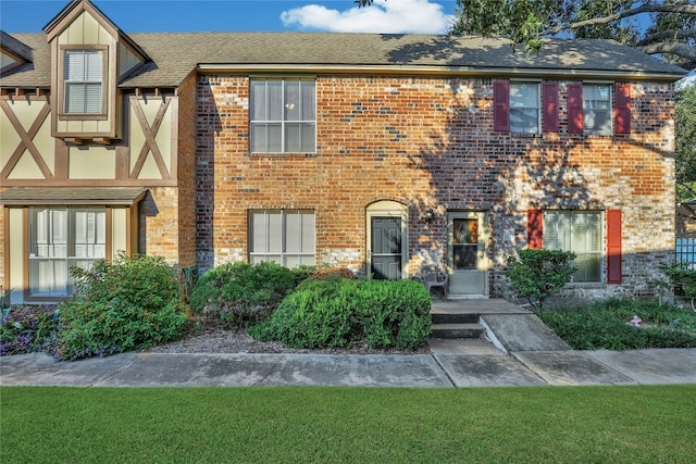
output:
[[[233,327],[265,319],[313,267],[289,269],[273,262],[227,263],[203,274],[191,292],[195,313],[219,314]]]

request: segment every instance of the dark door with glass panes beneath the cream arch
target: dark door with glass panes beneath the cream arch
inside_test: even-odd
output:
[[[401,218],[372,217],[372,276],[401,278]]]

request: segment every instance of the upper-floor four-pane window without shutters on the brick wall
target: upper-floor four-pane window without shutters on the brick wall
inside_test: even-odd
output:
[[[316,150],[314,80],[251,80],[249,113],[252,152],[313,153]]]

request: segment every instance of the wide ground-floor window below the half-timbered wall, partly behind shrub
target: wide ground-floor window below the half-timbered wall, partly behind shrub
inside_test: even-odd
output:
[[[104,208],[37,208],[29,212],[29,296],[73,292],[73,266],[90,268],[107,253]]]

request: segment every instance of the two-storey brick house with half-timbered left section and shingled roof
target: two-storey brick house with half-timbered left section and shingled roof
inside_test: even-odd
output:
[[[87,0],[2,33],[0,281],[71,292],[123,250],[274,260],[510,297],[506,256],[569,249],[568,293],[644,292],[674,252],[673,83],[607,40],[125,34]]]

